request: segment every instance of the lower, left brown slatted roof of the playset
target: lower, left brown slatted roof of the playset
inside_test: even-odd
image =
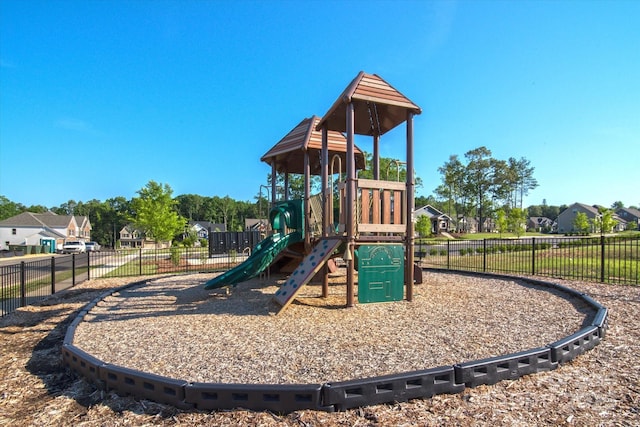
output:
[[[322,150],[322,132],[316,130],[320,118],[312,116],[303,119],[284,138],[267,151],[261,158],[263,162],[273,165],[278,172],[304,174],[304,152],[309,151],[309,163],[312,175],[320,175],[320,157]],[[329,161],[335,154],[342,158],[342,172],[346,171],[347,139],[340,132],[328,132]],[[356,169],[364,169],[365,161],[362,151],[355,147]],[[337,172],[337,170],[335,171]]]

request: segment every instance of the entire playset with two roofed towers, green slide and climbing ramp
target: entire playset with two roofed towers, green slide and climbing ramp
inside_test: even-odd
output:
[[[395,301],[403,294],[411,301],[416,279],[413,117],[420,113],[420,107],[382,78],[360,72],[324,117],[302,120],[262,156],[271,165],[269,219],[274,234],[245,263],[212,279],[205,288],[235,285],[289,257],[298,268],[276,295],[282,308],[316,274],[322,278],[326,297],[327,262],[344,248],[347,307],[355,303],[358,267],[367,270],[358,282],[359,302]],[[406,123],[406,182],[381,180],[380,137],[402,123]],[[365,158],[355,145],[356,134],[373,138],[373,179],[357,177]],[[284,175],[281,202],[275,201],[278,173]],[[301,204],[288,200],[290,174],[304,175]],[[311,195],[312,175],[321,177],[320,194]]]

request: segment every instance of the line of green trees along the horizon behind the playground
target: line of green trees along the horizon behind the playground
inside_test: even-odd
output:
[[[366,162],[371,164],[371,154],[365,153]],[[504,228],[519,229],[518,226],[528,217],[547,217],[554,220],[567,205],[550,206],[543,201],[541,205],[523,207],[524,196],[538,187],[534,177],[535,168],[524,157],[507,160],[496,159],[491,150],[479,147],[466,152],[461,159],[451,155],[438,168],[441,183],[429,196],[418,196],[416,208],[432,205],[441,212],[447,213],[454,220],[461,217],[478,219],[479,231],[484,231],[485,219],[491,218],[501,230]],[[372,178],[371,168],[359,171],[361,178]],[[380,179],[404,181],[406,168],[403,162],[394,159],[380,159]],[[172,240],[175,236],[184,235],[188,221],[209,221],[224,224],[229,231],[242,231],[245,219],[266,218],[269,211],[270,174],[267,176],[268,191],[259,191],[254,201],[239,201],[224,196],[201,196],[182,194],[173,197],[168,184],[149,181],[131,199],[113,197],[105,201],[96,199],[88,202],[69,200],[60,206],[46,207],[42,205],[25,206],[13,202],[0,195],[0,220],[21,212],[42,213],[52,211],[60,215],[79,215],[89,218],[93,227],[92,238],[101,244],[113,245],[119,231],[128,224],[133,224],[157,240]],[[423,185],[422,179],[416,177],[416,187]],[[304,178],[302,175],[291,175],[288,179],[289,198],[300,198],[304,194]],[[312,193],[319,191],[319,178],[311,181]],[[284,198],[284,176],[276,177],[277,198]],[[622,202],[615,202],[612,209],[624,207]],[[159,218],[164,218],[160,220]],[[506,225],[505,225],[506,224]],[[420,228],[427,228],[421,224]],[[162,238],[161,238],[162,237]]]

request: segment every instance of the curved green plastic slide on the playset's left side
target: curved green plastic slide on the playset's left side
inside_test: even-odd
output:
[[[289,234],[273,234],[256,245],[253,253],[242,264],[214,277],[205,283],[205,289],[216,289],[224,286],[236,285],[245,280],[256,277],[265,271],[276,259],[278,254],[289,245],[303,240],[300,231]]]

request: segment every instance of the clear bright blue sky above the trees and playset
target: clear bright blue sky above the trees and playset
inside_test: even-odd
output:
[[[0,0],[0,194],[253,200],[260,157],[362,70],[423,110],[418,195],[486,146],[535,167],[525,206],[637,206],[638,22],[638,1]]]

